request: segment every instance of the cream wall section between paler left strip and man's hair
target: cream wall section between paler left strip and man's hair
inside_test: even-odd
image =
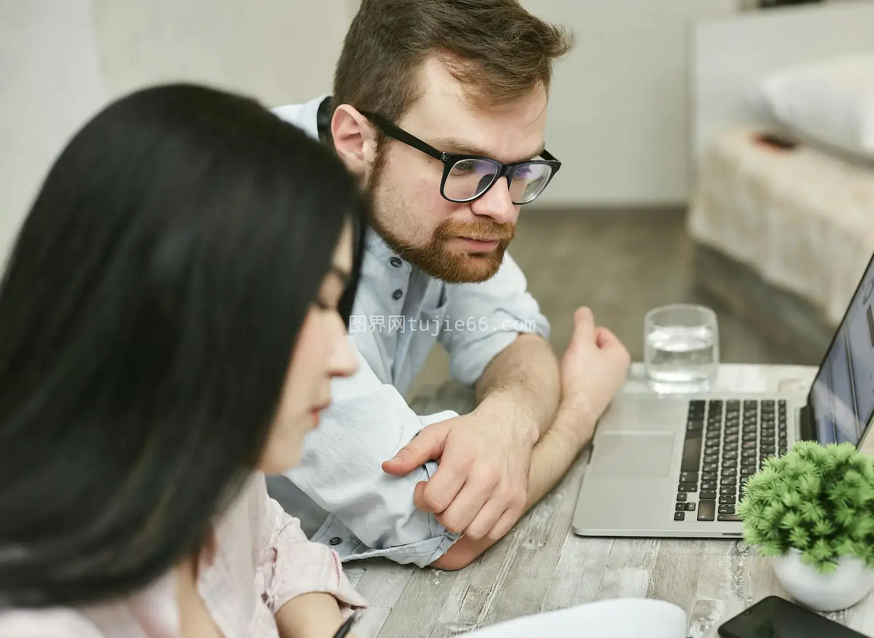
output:
[[[110,95],[200,80],[268,105],[329,93],[348,0],[92,0]]]

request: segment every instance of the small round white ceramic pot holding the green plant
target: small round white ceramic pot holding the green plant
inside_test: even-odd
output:
[[[861,558],[842,556],[830,574],[801,562],[801,551],[772,558],[773,571],[790,596],[818,612],[836,612],[862,600],[874,585],[874,570]]]

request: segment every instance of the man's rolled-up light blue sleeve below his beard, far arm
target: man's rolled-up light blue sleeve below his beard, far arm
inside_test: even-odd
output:
[[[520,334],[550,334],[549,322],[510,253],[489,281],[454,286],[445,325],[439,340],[449,353],[449,371],[467,385],[475,384],[489,362]]]

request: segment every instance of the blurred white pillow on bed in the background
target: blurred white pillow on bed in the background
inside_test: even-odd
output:
[[[773,116],[795,134],[874,160],[874,54],[785,69],[761,89]]]

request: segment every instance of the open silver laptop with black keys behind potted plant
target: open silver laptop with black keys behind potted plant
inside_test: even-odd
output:
[[[743,483],[796,440],[858,445],[874,414],[874,260],[810,392],[622,394],[593,439],[580,536],[739,537]]]

